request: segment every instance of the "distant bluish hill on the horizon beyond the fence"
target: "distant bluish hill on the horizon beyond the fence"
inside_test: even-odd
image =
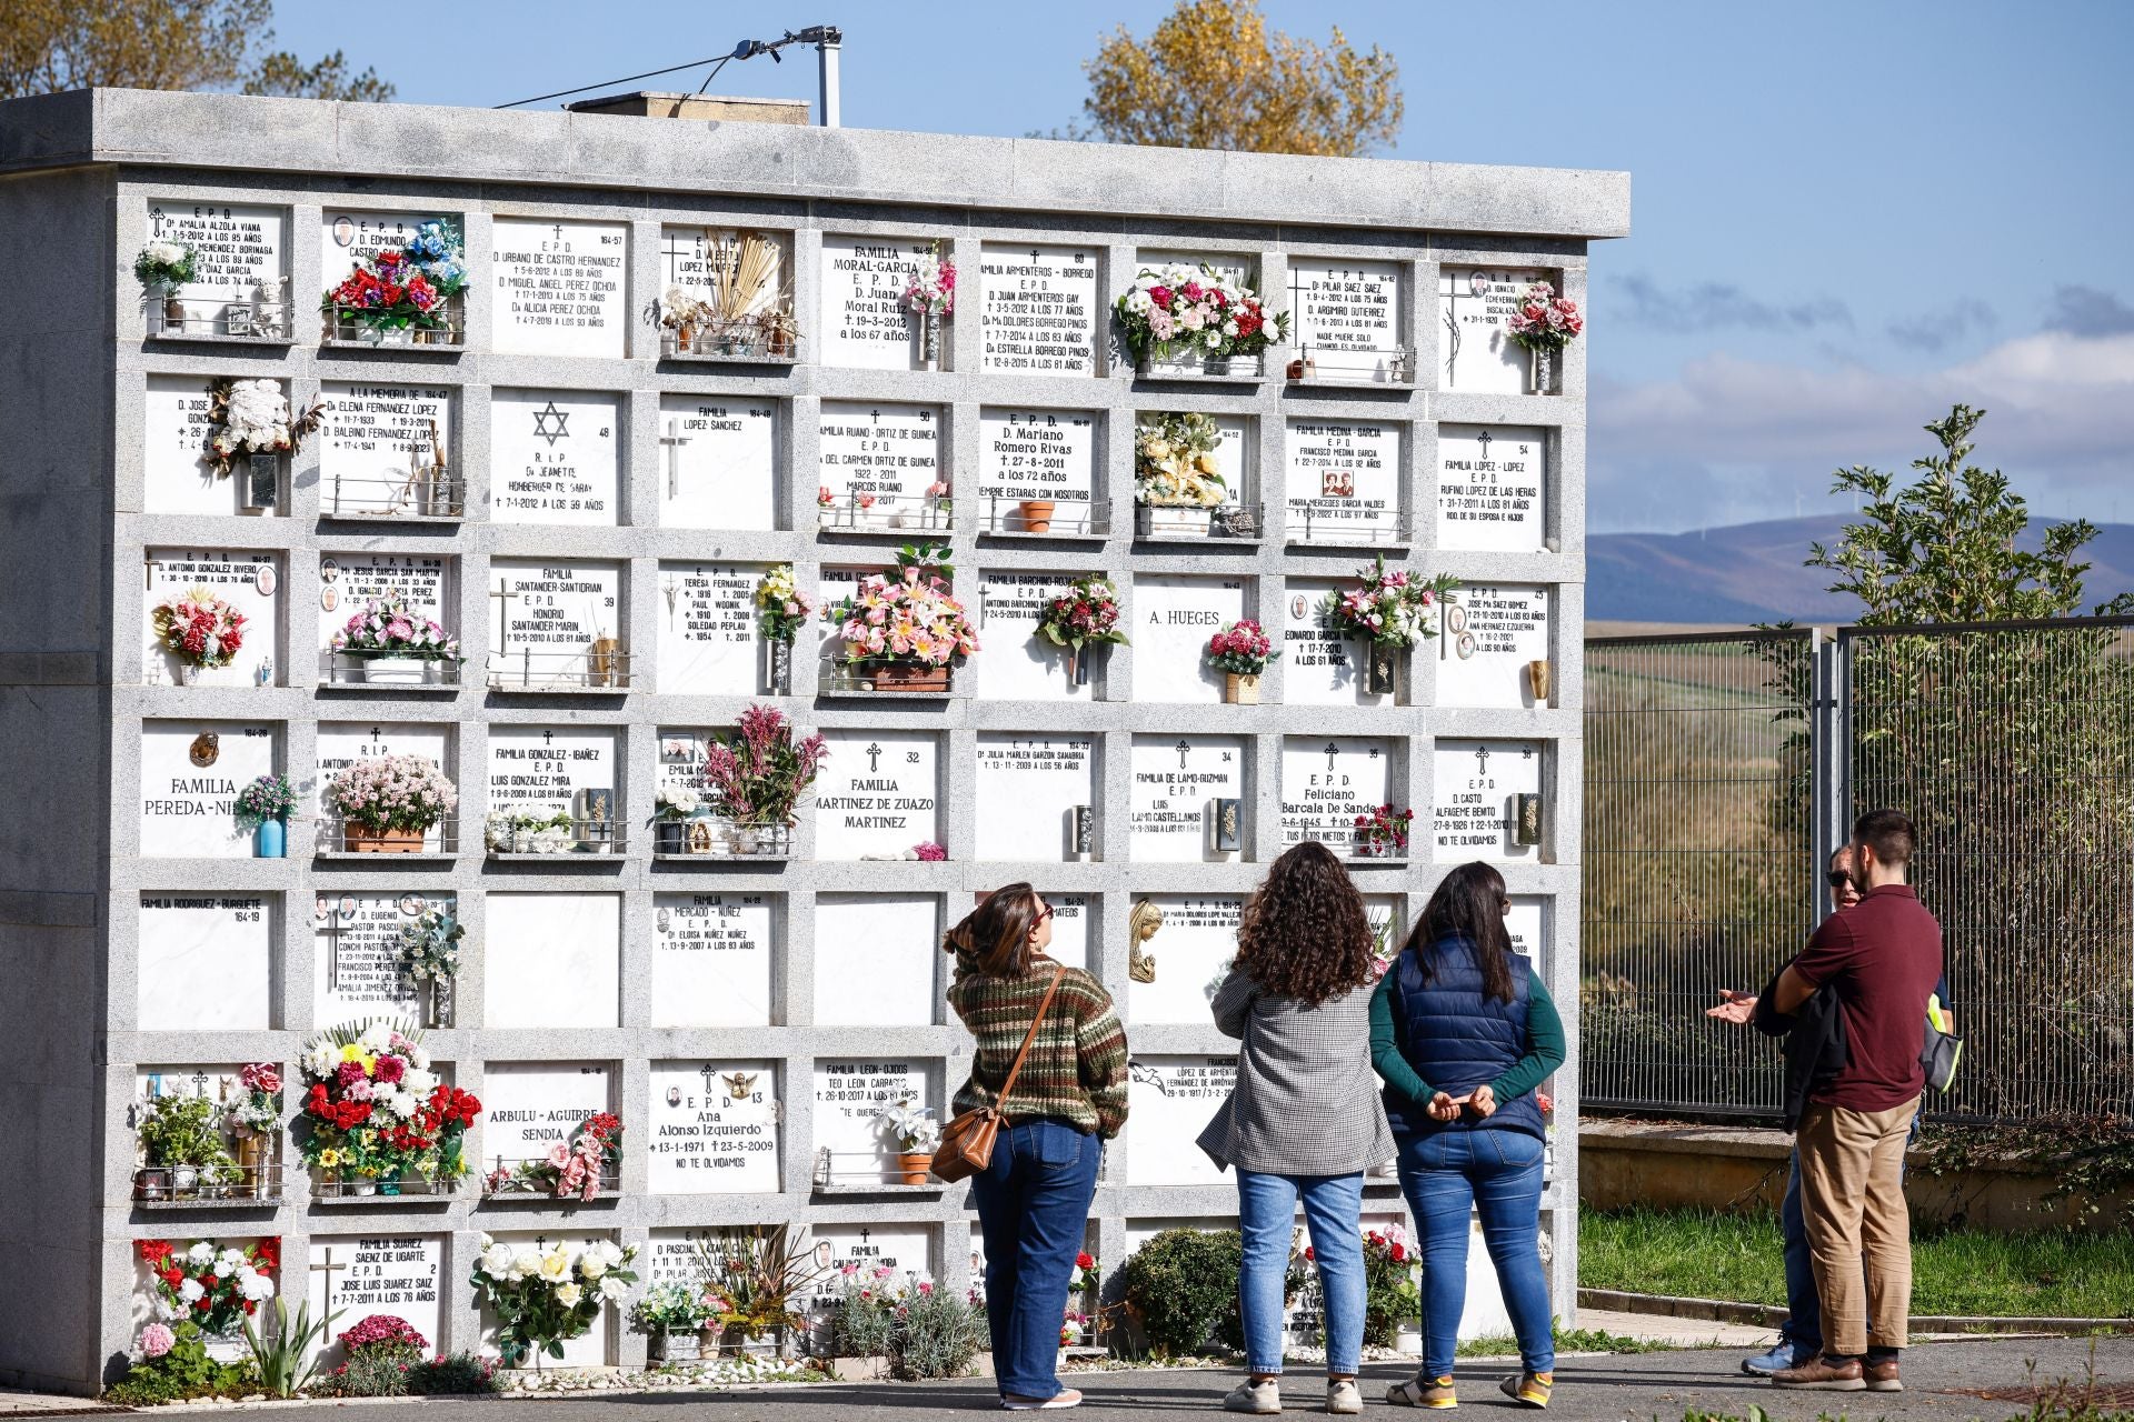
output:
[[[1810,544],[1835,544],[1846,516],[1778,518],[1701,533],[1590,533],[1588,623],[1850,623],[1859,603],[1825,593],[1801,567]],[[2032,546],[2057,518],[2032,520]],[[2134,524],[2100,524],[2083,610],[2134,588]]]

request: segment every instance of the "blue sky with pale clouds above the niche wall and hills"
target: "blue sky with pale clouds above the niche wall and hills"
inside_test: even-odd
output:
[[[1957,399],[2036,512],[2134,520],[2134,4],[1263,9],[1400,60],[1389,156],[1633,173],[1635,235],[1592,254],[1592,529],[1831,512],[1833,467],[1906,465]],[[282,0],[275,23],[401,100],[474,107],[839,23],[847,126],[1024,134],[1080,113],[1101,32],[1167,11],[461,0],[380,23]],[[715,90],[813,98],[813,51]]]

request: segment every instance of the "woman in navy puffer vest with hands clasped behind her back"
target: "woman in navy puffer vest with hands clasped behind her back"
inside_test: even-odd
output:
[[[1455,1407],[1453,1347],[1466,1307],[1468,1211],[1481,1213],[1519,1377],[1502,1392],[1549,1405],[1556,1350],[1541,1269],[1543,1132],[1534,1089],[1564,1062],[1564,1025],[1526,957],[1511,951],[1504,878],[1462,863],[1370,1004],[1370,1055],[1400,1145],[1400,1190],[1421,1234],[1423,1371],[1387,1392],[1406,1407]]]

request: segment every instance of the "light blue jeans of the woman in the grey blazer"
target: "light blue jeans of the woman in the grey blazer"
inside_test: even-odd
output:
[[[1327,1373],[1355,1375],[1364,1358],[1364,1173],[1261,1175],[1238,1170],[1238,1230],[1244,1266],[1238,1307],[1244,1313],[1244,1362],[1253,1373],[1283,1371],[1283,1281],[1289,1241],[1304,1196],[1304,1224],[1327,1300]]]

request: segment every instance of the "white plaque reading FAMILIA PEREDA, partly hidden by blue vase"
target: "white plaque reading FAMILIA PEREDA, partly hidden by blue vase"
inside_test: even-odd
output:
[[[250,859],[237,791],[273,774],[280,727],[265,721],[141,725],[141,857]]]

